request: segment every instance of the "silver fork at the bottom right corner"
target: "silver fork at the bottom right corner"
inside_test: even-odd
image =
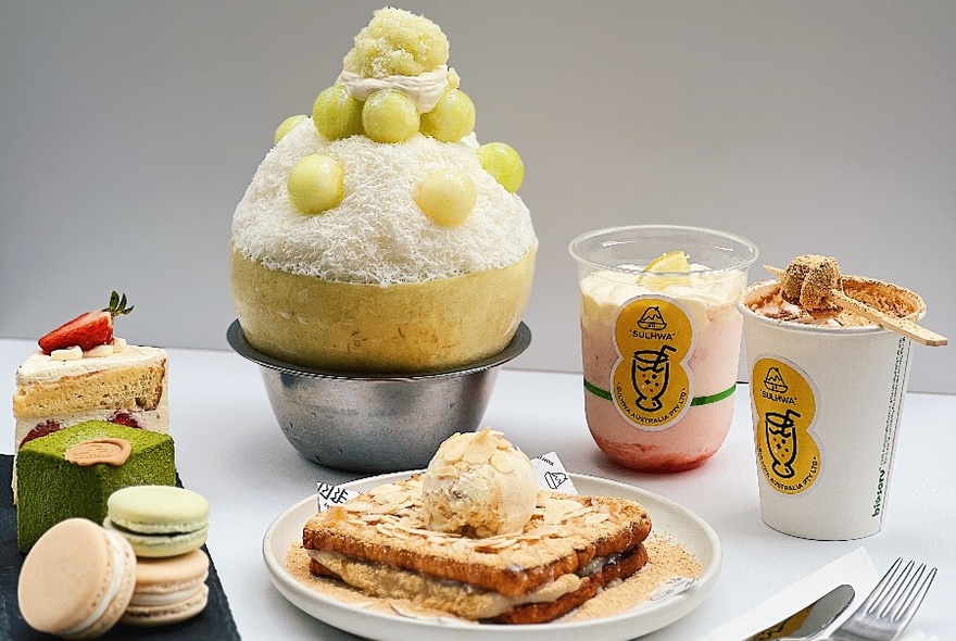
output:
[[[892,641],[903,631],[929,591],[936,568],[923,576],[924,563],[914,570],[910,561],[901,570],[902,563],[903,557],[896,560],[857,611],[830,633],[831,641]]]

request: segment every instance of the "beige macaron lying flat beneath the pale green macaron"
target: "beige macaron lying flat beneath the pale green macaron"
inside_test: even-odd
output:
[[[198,615],[209,600],[209,557],[201,550],[166,558],[139,558],[136,590],[120,619],[131,626],[165,626]]]

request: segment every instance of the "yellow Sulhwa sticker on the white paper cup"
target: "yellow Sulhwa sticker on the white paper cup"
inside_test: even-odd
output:
[[[760,472],[778,492],[804,492],[820,475],[820,448],[809,432],[817,413],[814,385],[796,365],[777,357],[758,359],[752,375]]]

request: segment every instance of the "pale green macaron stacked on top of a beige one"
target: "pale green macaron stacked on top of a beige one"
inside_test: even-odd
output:
[[[123,535],[141,557],[192,552],[209,532],[209,501],[183,488],[123,488],[110,494],[106,511],[103,526]]]

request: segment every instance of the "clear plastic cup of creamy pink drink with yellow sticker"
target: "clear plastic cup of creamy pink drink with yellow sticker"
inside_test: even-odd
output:
[[[707,229],[636,226],[586,234],[570,252],[594,441],[633,469],[697,467],[730,429],[743,323],[735,303],[756,248]],[[689,262],[655,266],[675,261]]]

